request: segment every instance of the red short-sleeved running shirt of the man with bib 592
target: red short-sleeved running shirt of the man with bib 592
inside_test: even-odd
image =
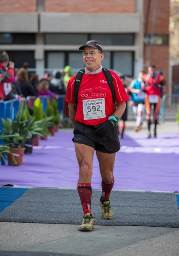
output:
[[[113,78],[116,102],[122,103],[129,99],[119,76],[110,70]],[[73,76],[67,86],[66,101],[74,104]],[[78,104],[75,120],[85,125],[99,125],[114,114],[115,105],[111,90],[103,72],[96,75],[84,74],[78,92]]]

